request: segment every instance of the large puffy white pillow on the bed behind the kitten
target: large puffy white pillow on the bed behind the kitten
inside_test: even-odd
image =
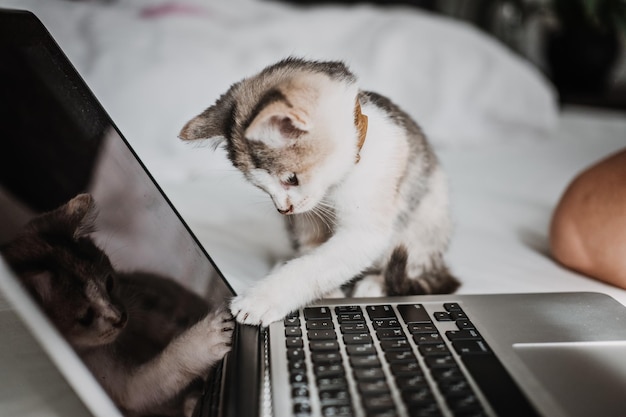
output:
[[[0,0],[1,3],[12,3]],[[542,136],[557,119],[541,74],[469,24],[413,8],[232,0],[14,0],[39,15],[157,177],[228,166],[181,143],[183,124],[287,55],[345,61],[435,146]]]

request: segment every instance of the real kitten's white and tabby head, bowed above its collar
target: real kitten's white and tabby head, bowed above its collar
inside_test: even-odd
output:
[[[233,165],[279,212],[304,213],[355,163],[357,93],[342,64],[288,60],[234,85],[180,137],[226,139]]]

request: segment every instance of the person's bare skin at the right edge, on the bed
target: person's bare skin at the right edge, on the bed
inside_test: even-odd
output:
[[[570,183],[553,213],[550,247],[562,265],[626,288],[626,150]]]

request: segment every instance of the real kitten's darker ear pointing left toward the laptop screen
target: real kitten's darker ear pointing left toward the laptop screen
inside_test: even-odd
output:
[[[221,142],[234,123],[234,101],[232,89],[198,116],[188,121],[178,134],[185,141],[217,139]]]

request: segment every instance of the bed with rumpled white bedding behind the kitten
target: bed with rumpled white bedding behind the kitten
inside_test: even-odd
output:
[[[469,24],[404,7],[260,0],[0,0],[32,10],[235,290],[289,256],[282,219],[221,150],[177,139],[234,82],[288,55],[345,61],[422,125],[451,184],[462,293],[626,291],[548,246],[573,176],[626,145],[623,113],[559,108],[531,64]],[[184,281],[184,278],[181,278]]]

